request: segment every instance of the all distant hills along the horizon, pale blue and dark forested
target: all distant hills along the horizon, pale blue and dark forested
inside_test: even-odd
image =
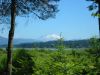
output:
[[[2,43],[0,48],[7,47],[6,38],[0,38]],[[2,40],[3,39],[3,40]],[[2,42],[3,41],[3,42]],[[58,41],[35,41],[33,39],[14,39],[14,48],[55,48],[58,45]],[[64,41],[64,46],[68,48],[89,48],[89,40],[69,40]]]

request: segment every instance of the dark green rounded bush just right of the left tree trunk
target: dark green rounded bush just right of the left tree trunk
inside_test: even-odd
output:
[[[13,59],[13,75],[32,75],[34,62],[26,50],[18,50]]]

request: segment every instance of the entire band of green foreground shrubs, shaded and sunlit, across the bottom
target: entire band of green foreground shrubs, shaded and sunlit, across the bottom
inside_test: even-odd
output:
[[[97,63],[96,56],[81,49],[29,51],[18,49],[13,53],[13,75],[99,75],[100,73],[100,57]],[[0,57],[0,66],[2,63],[0,72],[5,65],[4,57],[5,55]]]

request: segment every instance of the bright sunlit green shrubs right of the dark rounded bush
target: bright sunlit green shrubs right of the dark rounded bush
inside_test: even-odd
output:
[[[95,75],[95,61],[88,57],[84,51],[63,50],[44,53],[35,51],[35,74],[34,75]],[[74,52],[74,55],[73,55]],[[79,53],[79,54],[78,54]],[[34,51],[33,51],[34,55]]]

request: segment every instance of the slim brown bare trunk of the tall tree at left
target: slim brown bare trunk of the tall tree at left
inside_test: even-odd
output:
[[[8,47],[7,47],[7,75],[12,75],[12,48],[13,37],[15,30],[15,12],[16,12],[16,0],[12,0],[11,3],[11,26],[8,35]]]

